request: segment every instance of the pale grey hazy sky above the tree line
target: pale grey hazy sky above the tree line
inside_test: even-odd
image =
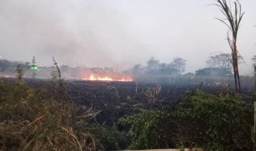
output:
[[[233,2],[233,1],[231,1]],[[230,53],[228,27],[214,0],[0,0],[0,59],[39,65],[131,68],[150,57],[187,60],[186,72],[206,67],[210,53]],[[245,12],[238,51],[252,74],[256,55],[256,1],[241,0]],[[231,3],[232,4],[232,3]]]

